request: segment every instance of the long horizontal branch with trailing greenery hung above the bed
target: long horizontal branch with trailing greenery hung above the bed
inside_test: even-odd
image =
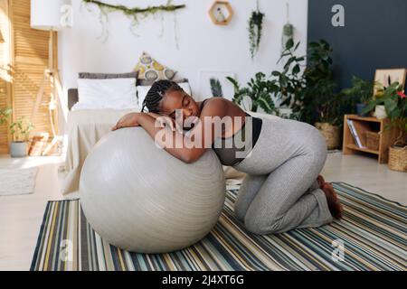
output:
[[[131,19],[131,27],[137,26],[139,21],[139,17],[146,18],[148,15],[154,15],[156,13],[164,13],[164,12],[172,12],[175,13],[176,10],[185,8],[185,5],[172,5],[171,1],[168,0],[166,5],[155,5],[155,6],[147,6],[145,8],[133,7],[129,8],[125,5],[111,5],[109,3],[105,3],[98,0],[82,0],[85,4],[92,4],[97,5],[100,10],[99,21],[102,25],[102,33],[100,37],[102,38],[102,42],[106,42],[109,38],[109,31],[106,28],[106,23],[108,22],[108,14],[111,12],[122,12],[128,18]],[[162,15],[162,14],[161,14]],[[161,21],[163,21],[163,17],[161,17]],[[176,21],[174,20],[175,26],[175,44],[178,48],[177,36],[176,36]],[[133,30],[131,30],[134,33]],[[136,33],[135,33],[136,34]]]

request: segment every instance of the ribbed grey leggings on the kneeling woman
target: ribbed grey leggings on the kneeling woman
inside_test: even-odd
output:
[[[261,119],[251,154],[234,166],[248,173],[235,203],[236,217],[255,234],[331,222],[327,198],[316,180],[327,159],[324,137],[305,123]]]

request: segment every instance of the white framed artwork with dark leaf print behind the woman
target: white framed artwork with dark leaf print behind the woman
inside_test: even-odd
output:
[[[221,97],[232,100],[234,88],[226,77],[234,78],[231,71],[201,71],[200,72],[200,95],[201,98]]]

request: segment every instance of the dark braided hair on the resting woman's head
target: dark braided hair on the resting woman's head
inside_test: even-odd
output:
[[[148,112],[159,113],[158,106],[160,101],[164,98],[166,93],[171,91],[183,91],[179,85],[171,80],[158,80],[154,82],[151,89],[148,90],[146,98],[143,101],[143,107],[141,111],[144,111],[144,108],[147,107]]]

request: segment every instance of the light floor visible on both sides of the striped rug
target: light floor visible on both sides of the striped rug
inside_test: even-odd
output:
[[[28,270],[47,200],[61,200],[62,157],[11,159],[0,156],[0,168],[40,166],[31,195],[0,197],[0,270]],[[407,173],[388,170],[373,158],[329,154],[323,175],[329,182],[348,182],[407,205]]]

